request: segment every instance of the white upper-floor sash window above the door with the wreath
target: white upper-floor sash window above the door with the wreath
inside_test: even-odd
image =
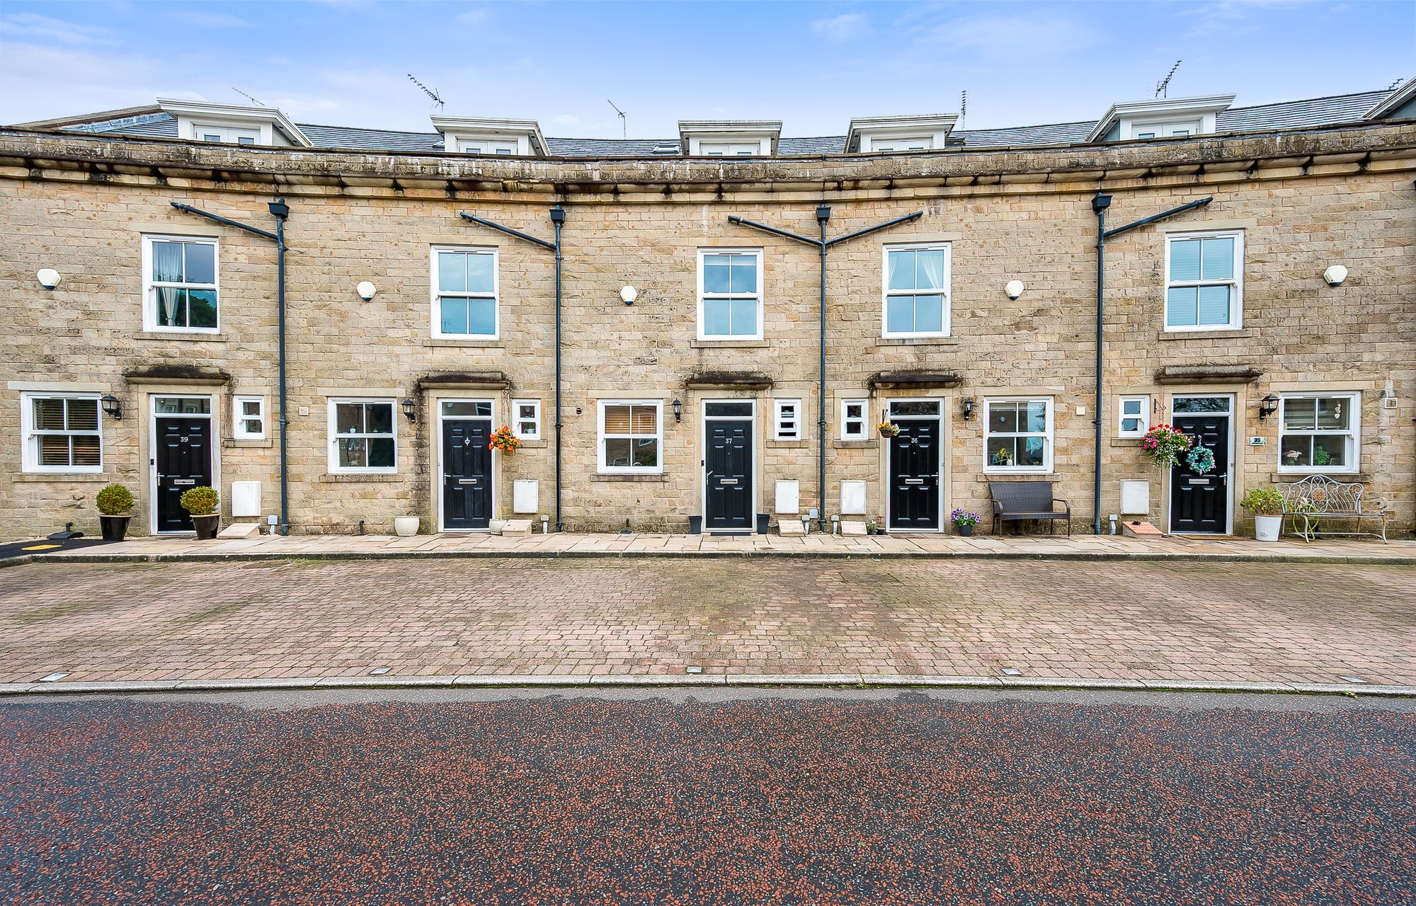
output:
[[[1165,330],[1238,330],[1243,321],[1243,232],[1165,236]]]

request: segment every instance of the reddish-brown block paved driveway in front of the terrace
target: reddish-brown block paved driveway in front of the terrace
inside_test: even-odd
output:
[[[0,570],[0,682],[687,665],[1416,685],[1416,568],[405,559]]]

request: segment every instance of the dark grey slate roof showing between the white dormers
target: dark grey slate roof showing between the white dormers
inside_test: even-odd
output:
[[[1231,108],[1218,115],[1216,132],[1267,132],[1307,129],[1358,122],[1391,91],[1368,91],[1331,98],[1284,101],[1250,108]],[[72,123],[72,120],[71,120]],[[297,123],[316,147],[358,151],[442,151],[443,139],[436,132],[399,132],[394,129],[357,129]],[[1086,140],[1096,120],[1015,126],[1010,129],[963,129],[950,133],[950,147],[1028,147],[1079,144]],[[150,112],[92,123],[65,125],[72,132],[176,139],[177,119],[170,113]],[[678,139],[547,139],[555,157],[673,157],[680,151]],[[841,154],[845,136],[782,139],[777,153],[784,156]]]

